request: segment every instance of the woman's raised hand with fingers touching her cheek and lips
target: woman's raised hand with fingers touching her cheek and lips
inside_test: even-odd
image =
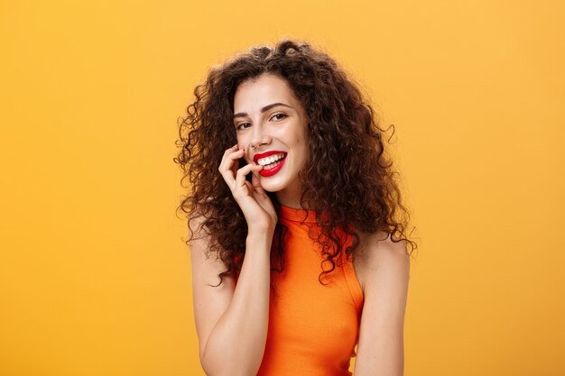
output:
[[[241,207],[249,233],[266,231],[273,234],[277,221],[276,211],[256,175],[263,170],[263,166],[249,163],[239,169],[239,159],[244,155],[245,149],[237,150],[237,145],[227,149],[218,171],[226,180],[237,205]],[[245,179],[249,172],[253,173],[251,183]]]

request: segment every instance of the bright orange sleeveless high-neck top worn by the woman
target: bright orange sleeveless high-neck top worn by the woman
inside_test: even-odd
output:
[[[314,239],[320,234],[315,211],[282,206],[278,215],[288,227],[284,268],[271,271],[274,293],[272,289],[266,347],[257,376],[350,376],[364,301],[353,263],[345,255],[352,238],[347,236],[334,259],[334,271],[321,277],[324,286],[319,281],[321,246],[309,236],[309,231]]]

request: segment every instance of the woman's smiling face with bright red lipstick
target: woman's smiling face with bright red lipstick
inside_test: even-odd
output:
[[[263,164],[257,176],[264,190],[284,206],[301,208],[298,177],[308,160],[307,117],[283,78],[263,74],[236,89],[234,126],[247,163]],[[255,149],[249,145],[255,146]]]

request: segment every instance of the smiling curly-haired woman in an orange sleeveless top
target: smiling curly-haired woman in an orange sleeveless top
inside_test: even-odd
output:
[[[356,376],[402,375],[415,243],[359,89],[285,40],[211,69],[194,94],[175,162],[204,371],[350,375],[358,343]]]

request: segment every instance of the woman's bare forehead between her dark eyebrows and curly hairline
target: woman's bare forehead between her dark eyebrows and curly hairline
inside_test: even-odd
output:
[[[234,112],[261,108],[275,102],[295,105],[298,100],[284,78],[264,74],[258,78],[246,79],[237,87]]]

